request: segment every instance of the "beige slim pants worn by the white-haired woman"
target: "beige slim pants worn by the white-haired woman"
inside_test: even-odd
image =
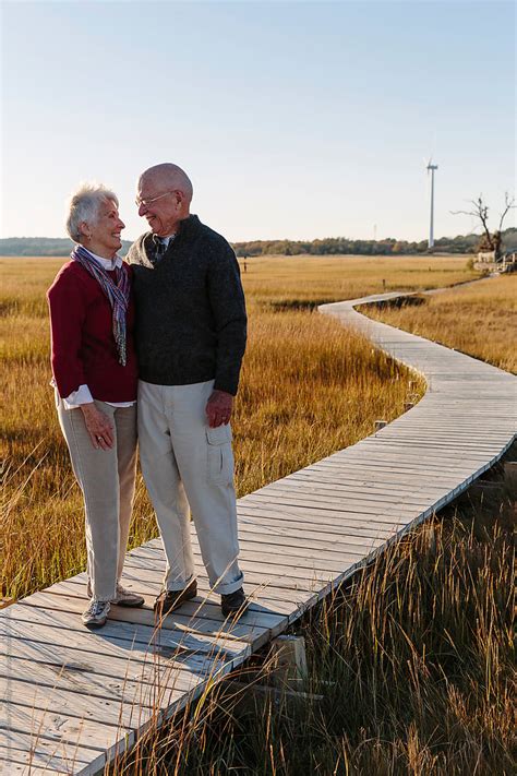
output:
[[[84,496],[92,594],[109,600],[115,598],[128,545],[136,466],[136,405],[111,407],[98,401],[95,405],[113,426],[110,450],[95,450],[81,409],[65,409],[59,399],[58,416]]]

